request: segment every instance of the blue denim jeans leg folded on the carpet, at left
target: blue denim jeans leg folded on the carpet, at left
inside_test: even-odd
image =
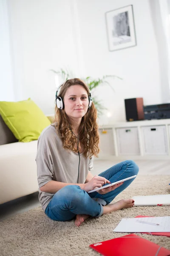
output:
[[[94,201],[77,185],[68,185],[60,189],[45,209],[45,214],[55,221],[68,221],[77,214],[99,217],[102,213],[102,204]]]

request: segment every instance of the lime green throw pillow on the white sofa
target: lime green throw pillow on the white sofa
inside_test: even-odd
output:
[[[20,142],[38,140],[42,130],[51,124],[30,98],[19,102],[0,102],[0,115]]]

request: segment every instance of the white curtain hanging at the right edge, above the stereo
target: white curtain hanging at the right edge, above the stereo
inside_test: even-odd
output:
[[[170,102],[170,0],[150,0],[150,11],[156,36],[162,103]]]

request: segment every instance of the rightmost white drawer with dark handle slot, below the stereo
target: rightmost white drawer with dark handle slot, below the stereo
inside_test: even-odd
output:
[[[141,127],[144,154],[167,155],[167,133],[165,125]]]

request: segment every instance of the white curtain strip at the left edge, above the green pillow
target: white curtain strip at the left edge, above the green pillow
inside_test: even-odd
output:
[[[7,0],[0,0],[0,101],[14,101]]]

